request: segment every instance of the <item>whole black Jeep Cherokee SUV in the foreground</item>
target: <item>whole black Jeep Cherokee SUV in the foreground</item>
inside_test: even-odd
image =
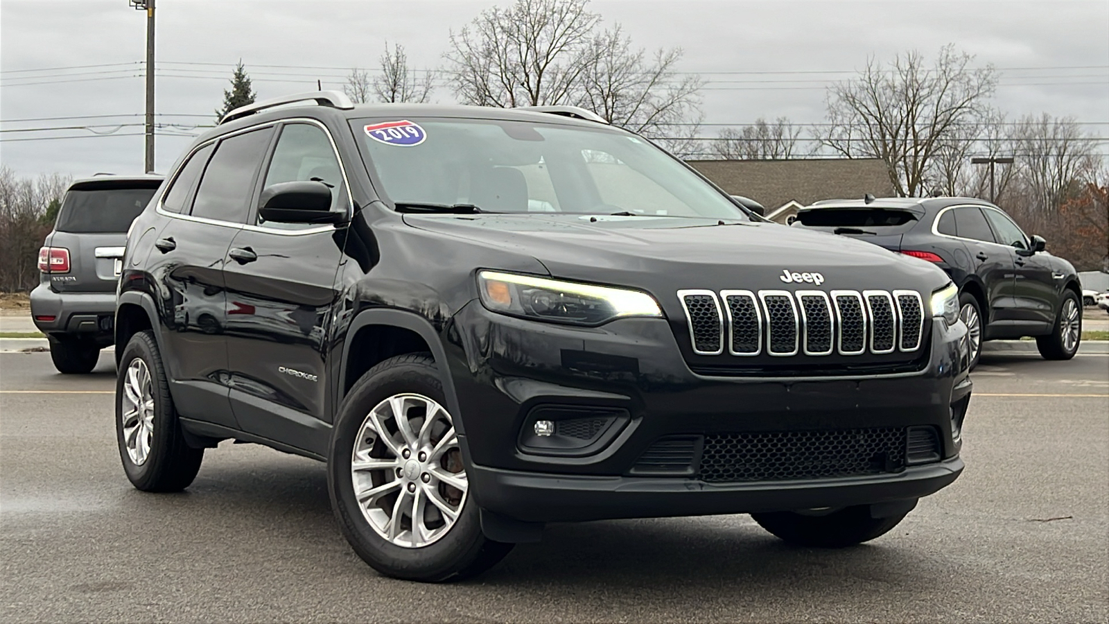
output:
[[[233,111],[135,221],[115,328],[136,487],[226,439],[326,461],[347,540],[404,578],[547,522],[856,544],[963,470],[943,271],[761,222],[578,109]]]

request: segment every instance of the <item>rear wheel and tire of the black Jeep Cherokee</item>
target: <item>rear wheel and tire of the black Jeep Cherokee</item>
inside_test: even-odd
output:
[[[154,335],[131,336],[115,380],[115,439],[128,480],[143,492],[177,492],[201,470],[203,449],[185,443]]]

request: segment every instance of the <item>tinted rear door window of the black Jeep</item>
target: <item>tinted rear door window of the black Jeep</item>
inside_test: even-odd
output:
[[[193,217],[245,223],[255,173],[269,147],[273,128],[220,141],[193,200]]]

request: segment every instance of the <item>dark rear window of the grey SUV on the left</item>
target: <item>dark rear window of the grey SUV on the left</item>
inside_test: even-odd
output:
[[[54,229],[77,233],[126,232],[150,203],[157,184],[153,182],[146,189],[115,185],[72,189],[65,193]]]

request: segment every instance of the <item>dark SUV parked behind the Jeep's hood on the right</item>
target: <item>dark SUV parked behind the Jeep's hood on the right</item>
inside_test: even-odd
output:
[[[959,289],[971,366],[986,340],[1035,336],[1048,360],[1069,360],[1078,352],[1082,290],[1075,268],[989,202],[827,200],[800,210],[793,225],[872,242],[946,271]]]

